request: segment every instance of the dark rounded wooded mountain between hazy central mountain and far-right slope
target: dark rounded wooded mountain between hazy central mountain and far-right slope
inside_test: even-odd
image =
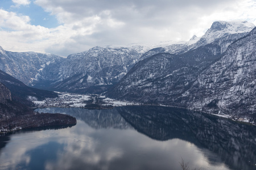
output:
[[[221,48],[216,43],[180,55],[156,54],[138,62],[107,96],[170,105],[191,88],[201,71],[220,57]]]

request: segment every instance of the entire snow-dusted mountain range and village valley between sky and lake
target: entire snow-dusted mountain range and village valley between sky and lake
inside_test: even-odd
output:
[[[255,124],[255,49],[255,25],[243,21],[214,22],[188,42],[96,46],[67,58],[0,47],[0,102],[26,109],[165,105]]]

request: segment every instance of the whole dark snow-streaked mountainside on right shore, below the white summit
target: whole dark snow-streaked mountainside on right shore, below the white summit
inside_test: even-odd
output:
[[[255,49],[256,28],[229,45],[225,53],[217,40],[179,55],[156,54],[138,62],[107,96],[210,113],[247,114],[255,121]]]

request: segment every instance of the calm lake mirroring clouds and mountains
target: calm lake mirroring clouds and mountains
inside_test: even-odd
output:
[[[0,137],[0,169],[256,169],[256,127],[166,107],[45,108],[69,128]]]

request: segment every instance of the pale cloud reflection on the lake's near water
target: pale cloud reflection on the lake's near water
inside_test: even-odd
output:
[[[181,156],[186,162],[200,162],[204,153],[180,139],[155,141],[135,130],[97,130],[78,121],[72,128],[13,135],[0,164],[33,168],[40,159],[46,169],[179,169]]]

